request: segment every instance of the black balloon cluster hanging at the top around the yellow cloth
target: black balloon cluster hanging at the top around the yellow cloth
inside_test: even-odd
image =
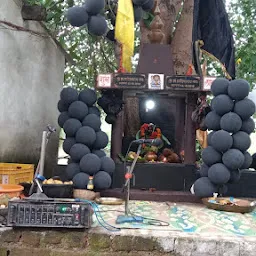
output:
[[[134,21],[139,22],[144,12],[154,7],[154,0],[133,0]],[[106,36],[115,41],[114,30],[108,31],[107,20],[113,27],[116,23],[117,0],[86,0],[82,6],[73,6],[67,10],[66,18],[74,27],[88,27],[88,32],[95,36]],[[105,12],[105,15],[102,13]]]

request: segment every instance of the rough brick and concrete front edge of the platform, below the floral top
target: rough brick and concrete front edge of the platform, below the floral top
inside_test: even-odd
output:
[[[0,256],[255,256],[256,237],[182,232],[0,229]]]

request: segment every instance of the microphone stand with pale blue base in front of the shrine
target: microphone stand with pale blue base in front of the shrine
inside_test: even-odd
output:
[[[122,224],[122,223],[132,223],[132,222],[143,222],[143,218],[139,216],[133,216],[130,214],[129,211],[129,200],[130,200],[130,187],[131,187],[131,177],[132,173],[134,171],[134,167],[137,163],[137,160],[140,156],[142,149],[142,144],[138,146],[136,157],[133,159],[131,167],[128,169],[128,171],[125,174],[126,182],[124,185],[124,190],[126,194],[125,198],[125,215],[119,215],[116,219],[116,224]]]

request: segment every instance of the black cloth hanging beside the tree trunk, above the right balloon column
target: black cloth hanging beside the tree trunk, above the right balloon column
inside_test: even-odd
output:
[[[194,0],[193,42],[198,40],[204,43],[202,49],[215,56],[234,79],[234,39],[223,0]]]

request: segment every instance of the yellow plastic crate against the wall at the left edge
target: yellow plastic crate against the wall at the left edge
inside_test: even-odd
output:
[[[0,163],[0,184],[31,182],[33,177],[33,164]]]

